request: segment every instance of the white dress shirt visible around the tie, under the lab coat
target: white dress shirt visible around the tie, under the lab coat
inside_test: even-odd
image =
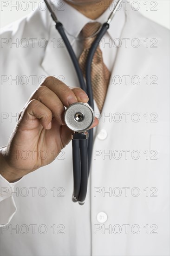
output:
[[[57,5],[57,1],[56,1],[56,5]],[[54,5],[53,7],[54,10],[56,5]],[[78,36],[81,30],[88,22],[98,21],[101,24],[106,22],[109,17],[109,14],[111,13],[112,6],[107,8],[107,10],[96,20],[91,20],[87,18],[83,14],[79,13],[75,8],[69,6],[68,4],[65,4],[64,9],[65,9],[64,12],[67,13],[67,19],[65,19],[65,15],[63,15],[63,11],[55,10],[55,13],[57,15],[57,18],[61,21],[61,23],[65,28],[65,32],[72,44],[74,52],[76,53],[77,57],[79,57],[79,55],[83,51],[83,41],[78,40],[79,39]],[[100,49],[102,50],[102,53],[103,53],[104,63],[110,71],[113,68],[114,60],[116,58],[116,53],[117,53],[118,41],[115,39],[120,38],[122,29],[124,27],[124,22],[125,22],[125,12],[124,12],[124,9],[121,8],[118,11],[118,15],[115,15],[113,17],[113,20],[111,21],[109,29],[107,30],[105,36],[100,42]]]

